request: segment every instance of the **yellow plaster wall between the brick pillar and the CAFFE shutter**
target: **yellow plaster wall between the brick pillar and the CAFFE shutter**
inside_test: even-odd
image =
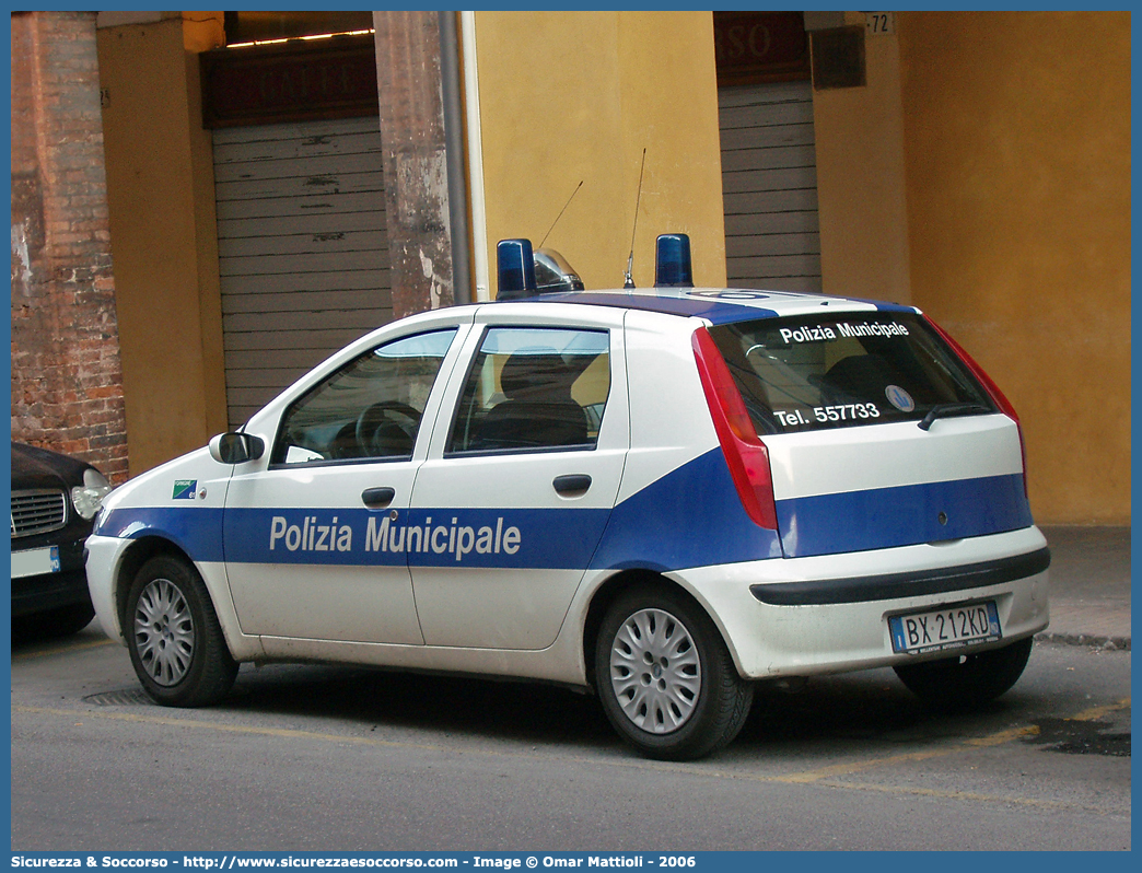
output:
[[[98,31],[130,474],[225,429],[209,133],[193,54],[220,13]]]

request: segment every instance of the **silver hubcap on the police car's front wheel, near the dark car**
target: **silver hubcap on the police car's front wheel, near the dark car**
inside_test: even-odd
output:
[[[143,668],[161,686],[177,684],[194,655],[191,607],[169,579],[155,579],[135,608],[135,647]]]

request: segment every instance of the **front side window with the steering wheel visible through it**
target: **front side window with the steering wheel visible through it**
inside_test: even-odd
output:
[[[450,328],[386,343],[316,385],[282,416],[272,462],[411,458],[456,333]]]

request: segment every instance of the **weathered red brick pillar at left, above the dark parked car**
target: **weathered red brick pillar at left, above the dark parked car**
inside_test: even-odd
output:
[[[95,13],[11,15],[11,436],[127,478]]]

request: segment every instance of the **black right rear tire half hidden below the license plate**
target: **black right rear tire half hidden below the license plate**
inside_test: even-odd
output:
[[[1028,636],[1002,649],[893,667],[900,681],[928,706],[943,712],[979,708],[1008,690],[1031,656]]]

